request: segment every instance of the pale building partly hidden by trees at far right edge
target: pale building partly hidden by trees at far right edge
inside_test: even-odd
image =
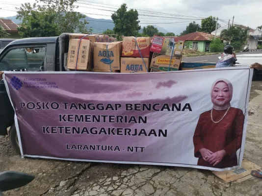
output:
[[[232,26],[232,25],[224,25],[224,26],[221,26],[220,28],[218,28],[216,30],[216,36],[220,36],[222,30],[228,29],[229,26]],[[234,26],[238,26],[242,29],[248,28],[247,26],[244,26],[244,25],[234,24]],[[215,31],[211,32],[211,34],[215,35]],[[258,41],[261,37],[262,37],[262,31],[260,29],[250,28],[249,31],[248,31],[248,37],[247,37],[245,44],[249,46],[249,49],[258,49]]]

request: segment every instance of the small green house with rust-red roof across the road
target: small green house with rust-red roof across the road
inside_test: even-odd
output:
[[[185,48],[195,49],[200,52],[209,52],[213,35],[205,32],[193,32],[175,38],[175,41],[184,41]]]

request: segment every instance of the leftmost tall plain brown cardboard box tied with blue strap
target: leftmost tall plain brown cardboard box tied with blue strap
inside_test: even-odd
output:
[[[90,40],[82,39],[79,47],[79,42],[79,39],[71,39],[69,41],[67,68],[90,71],[93,66],[94,44]]]

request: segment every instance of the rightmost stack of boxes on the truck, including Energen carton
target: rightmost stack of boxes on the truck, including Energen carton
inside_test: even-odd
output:
[[[184,42],[154,36],[150,49],[154,52],[150,64],[151,72],[178,71],[182,60],[183,45]]]

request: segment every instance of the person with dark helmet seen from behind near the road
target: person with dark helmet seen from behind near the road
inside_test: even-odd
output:
[[[216,64],[216,68],[232,67],[236,64],[236,53],[233,52],[233,47],[230,45],[225,46],[224,53]]]

